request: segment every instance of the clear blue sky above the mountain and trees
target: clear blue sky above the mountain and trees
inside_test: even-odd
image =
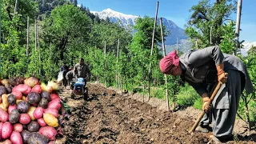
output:
[[[176,25],[184,28],[190,18],[190,8],[200,0],[159,0],[158,17],[170,19]],[[214,0],[211,0],[214,2]],[[90,10],[102,11],[107,8],[123,14],[133,14],[154,17],[157,1],[155,0],[78,0],[78,4],[89,7]],[[256,42],[256,0],[242,1],[242,17],[240,40]],[[236,20],[236,14],[232,14]]]

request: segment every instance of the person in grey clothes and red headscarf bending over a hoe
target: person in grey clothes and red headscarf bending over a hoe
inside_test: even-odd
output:
[[[210,46],[202,50],[190,50],[179,58],[176,51],[170,52],[161,59],[159,65],[162,73],[181,76],[202,97],[202,110],[206,114],[196,130],[203,133],[213,130],[210,138],[215,143],[232,140],[242,91],[245,89],[246,94],[254,91],[242,60],[234,55],[222,54],[219,46]],[[218,82],[226,83],[226,86],[222,86],[210,105],[210,93]],[[210,123],[213,124],[212,129]]]

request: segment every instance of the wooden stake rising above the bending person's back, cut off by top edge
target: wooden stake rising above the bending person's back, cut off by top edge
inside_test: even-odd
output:
[[[241,11],[242,11],[242,0],[238,0],[238,12],[237,12],[237,23],[236,23],[236,27],[235,27],[235,45],[236,45],[236,49],[234,49],[234,55],[237,54],[237,50],[238,50],[238,40],[239,40],[239,31],[240,31],[240,21],[241,21]]]

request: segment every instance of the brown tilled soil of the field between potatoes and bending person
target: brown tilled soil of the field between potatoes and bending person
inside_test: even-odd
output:
[[[89,99],[70,98],[70,90],[60,96],[66,98],[71,114],[64,122],[64,138],[56,143],[207,143],[209,134],[189,134],[194,121],[181,118],[170,111],[158,110],[116,94],[96,84],[88,84]],[[238,136],[228,143],[254,143],[256,135]]]

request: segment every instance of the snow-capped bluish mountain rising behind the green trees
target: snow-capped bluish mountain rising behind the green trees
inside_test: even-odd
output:
[[[135,15],[122,14],[111,9],[102,10],[101,12],[91,11],[91,13],[95,15],[98,14],[98,17],[102,19],[106,19],[108,17],[110,18],[110,22],[118,22],[121,26],[134,26],[136,19],[139,18]],[[184,30],[178,27],[174,22],[167,20],[166,18],[162,18],[162,25],[166,26],[166,30],[170,30],[170,35],[166,37],[166,45],[175,44],[177,38],[179,40],[188,38]]]

